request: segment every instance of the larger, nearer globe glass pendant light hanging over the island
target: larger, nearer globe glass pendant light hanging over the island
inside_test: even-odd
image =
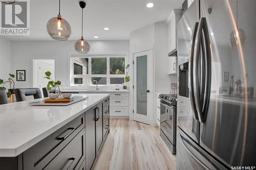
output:
[[[47,23],[48,34],[56,40],[65,41],[71,35],[71,27],[69,22],[61,18],[60,15],[60,0],[59,0],[59,14],[57,17],[51,18]]]

